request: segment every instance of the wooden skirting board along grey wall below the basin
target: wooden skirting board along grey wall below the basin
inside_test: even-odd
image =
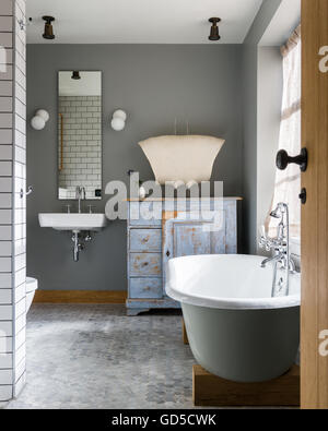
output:
[[[125,303],[124,290],[37,290],[38,303]]]

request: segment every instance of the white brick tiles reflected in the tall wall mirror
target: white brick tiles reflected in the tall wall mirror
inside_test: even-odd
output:
[[[102,189],[102,97],[60,96],[63,121],[63,166],[59,172],[61,197],[75,199],[77,185],[85,188],[86,199]],[[59,128],[59,165],[61,158]]]

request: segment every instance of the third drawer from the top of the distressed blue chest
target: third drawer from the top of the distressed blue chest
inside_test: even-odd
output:
[[[162,275],[161,253],[130,253],[130,276],[160,277]]]

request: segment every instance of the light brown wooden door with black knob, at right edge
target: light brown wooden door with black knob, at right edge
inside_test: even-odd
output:
[[[328,408],[328,0],[302,0],[302,56],[301,406]]]

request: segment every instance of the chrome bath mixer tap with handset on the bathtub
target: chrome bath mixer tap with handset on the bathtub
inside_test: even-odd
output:
[[[274,263],[272,296],[277,288],[277,270],[278,264],[280,268],[285,271],[285,294],[289,295],[289,274],[295,272],[294,261],[290,256],[290,220],[289,220],[289,206],[285,203],[279,203],[274,211],[270,214],[273,218],[280,218],[277,227],[277,237],[269,238],[262,227],[262,234],[259,241],[259,247],[267,251],[272,251],[273,256],[265,259],[261,267],[265,268],[269,262]],[[281,278],[279,279],[279,292],[282,289]]]

